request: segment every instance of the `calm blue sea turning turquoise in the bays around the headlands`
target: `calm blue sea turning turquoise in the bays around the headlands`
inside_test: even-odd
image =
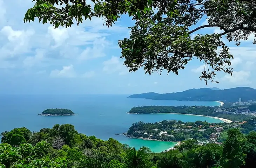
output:
[[[127,114],[134,106],[215,106],[217,102],[194,102],[175,100],[130,99],[129,95],[1,95],[0,96],[0,132],[16,127],[27,127],[31,131],[51,128],[55,124],[72,124],[75,129],[86,135],[95,135],[107,140],[110,137],[135,148],[149,147],[153,152],[161,152],[175,145],[175,142],[159,142],[130,139],[115,135],[128,131],[138,121],[154,123],[162,120],[196,121],[210,123],[221,122],[218,119],[181,114]],[[45,109],[66,108],[75,116],[44,117],[38,116]]]

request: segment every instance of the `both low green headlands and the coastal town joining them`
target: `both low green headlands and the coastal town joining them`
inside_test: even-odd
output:
[[[199,145],[208,143],[220,145],[227,137],[227,130],[229,128],[239,128],[243,133],[256,130],[256,104],[254,102],[243,102],[243,104],[241,102],[223,103],[221,106],[215,107],[145,106],[134,107],[130,110],[130,113],[152,114],[155,111],[160,113],[166,111],[166,113],[172,114],[184,113],[184,115],[207,116],[223,122],[208,123],[207,121],[183,122],[164,120],[156,123],[143,123],[140,121],[134,123],[124,135],[129,138],[144,140],[178,142],[176,145],[179,145],[180,141],[188,139],[196,140]]]

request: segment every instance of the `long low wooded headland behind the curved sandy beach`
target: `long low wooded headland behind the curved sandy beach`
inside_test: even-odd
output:
[[[139,106],[133,107],[130,114],[177,113],[194,114],[209,117],[229,119],[231,121],[244,121],[253,118],[250,115],[216,111],[210,106]]]

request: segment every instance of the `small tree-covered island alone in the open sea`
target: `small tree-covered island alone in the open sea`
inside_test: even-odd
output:
[[[69,109],[46,109],[39,116],[73,116],[75,113]]]

